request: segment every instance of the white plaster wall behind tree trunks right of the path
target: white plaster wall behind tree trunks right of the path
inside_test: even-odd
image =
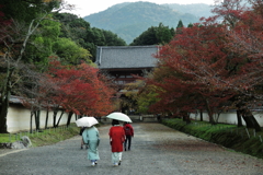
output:
[[[253,115],[254,115],[256,121],[259,122],[259,125],[261,127],[263,127],[263,112],[253,112]],[[192,119],[199,120],[201,115],[199,115],[199,113],[197,115],[191,114],[190,117]],[[209,121],[207,113],[203,113],[203,120]],[[218,122],[237,125],[238,124],[237,113],[236,112],[221,113],[219,116]],[[242,124],[245,126],[245,122],[243,119],[242,119]]]

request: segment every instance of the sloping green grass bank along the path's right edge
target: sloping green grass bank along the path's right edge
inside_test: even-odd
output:
[[[182,119],[163,119],[162,124],[203,140],[263,159],[263,131],[255,132],[254,129],[228,124],[210,125],[207,121],[192,121],[186,125]]]

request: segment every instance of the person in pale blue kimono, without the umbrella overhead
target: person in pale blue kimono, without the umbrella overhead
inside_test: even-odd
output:
[[[85,128],[82,132],[82,138],[84,143],[88,145],[88,160],[91,161],[91,166],[95,166],[98,164],[98,160],[100,160],[98,150],[100,144],[99,130],[94,126]]]

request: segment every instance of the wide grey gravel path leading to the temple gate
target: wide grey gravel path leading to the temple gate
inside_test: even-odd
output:
[[[132,151],[111,163],[110,126],[100,127],[101,160],[95,167],[80,150],[80,137],[54,145],[1,150],[1,175],[263,175],[263,160],[226,150],[161,124],[133,124]],[[7,152],[8,151],[8,152]]]

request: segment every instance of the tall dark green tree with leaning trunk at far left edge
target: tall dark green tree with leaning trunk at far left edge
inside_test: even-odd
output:
[[[18,70],[21,62],[23,62],[26,46],[41,23],[47,19],[53,10],[59,8],[59,3],[57,1],[50,1],[50,3],[48,3],[41,0],[33,0],[31,2],[11,0],[0,3],[3,3],[4,7],[4,18],[12,19],[12,24],[10,25],[4,25],[4,22],[0,20],[0,22],[2,22],[0,25],[0,57],[1,60],[5,60],[1,62],[1,68],[3,69],[1,69],[2,83],[0,89],[0,132],[8,132],[7,115],[9,100],[14,84],[20,80],[15,78],[19,75]],[[18,11],[21,13],[18,13]]]

